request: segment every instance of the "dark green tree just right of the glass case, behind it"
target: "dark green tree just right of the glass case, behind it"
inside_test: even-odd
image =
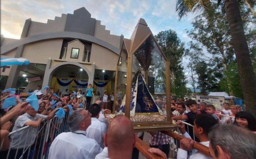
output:
[[[173,30],[161,31],[155,38],[170,61],[171,92],[173,96],[183,98],[187,93],[187,81],[182,66],[182,57],[186,51],[185,43],[181,42]]]

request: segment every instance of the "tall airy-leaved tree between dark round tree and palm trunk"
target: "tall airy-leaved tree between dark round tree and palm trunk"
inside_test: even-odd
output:
[[[234,60],[234,51],[226,17],[217,10],[216,5],[213,5],[208,11],[204,11],[197,16],[192,25],[193,29],[187,31],[188,36],[194,40],[189,42],[190,50],[193,50],[189,52],[190,58],[196,57],[211,66],[209,69],[205,67],[205,71],[212,72],[215,79],[220,80],[225,77],[227,78],[226,81],[229,81],[223,72],[228,70],[229,63]],[[197,63],[200,63],[200,61],[197,60]],[[217,81],[214,80],[214,82]],[[203,83],[201,82],[200,84]],[[207,82],[207,84],[212,85],[213,83]],[[229,86],[229,82],[227,84]],[[201,86],[199,85],[199,87]],[[217,87],[214,84],[214,86],[209,86],[205,89],[202,89],[203,94],[217,90]],[[228,93],[232,94],[232,89],[229,90],[230,92]]]

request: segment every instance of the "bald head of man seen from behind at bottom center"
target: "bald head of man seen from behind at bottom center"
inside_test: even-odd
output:
[[[108,132],[104,134],[104,145],[108,147],[108,157],[111,159],[131,159],[135,146],[131,120],[125,116],[115,117],[109,124]]]

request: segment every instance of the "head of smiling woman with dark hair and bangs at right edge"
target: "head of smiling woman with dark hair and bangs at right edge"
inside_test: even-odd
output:
[[[239,111],[235,116],[236,117],[233,124],[247,128],[256,134],[256,119],[250,112]]]

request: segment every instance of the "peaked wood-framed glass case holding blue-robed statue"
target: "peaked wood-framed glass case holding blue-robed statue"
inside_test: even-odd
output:
[[[144,19],[123,39],[116,66],[113,113],[123,113],[136,131],[170,130],[170,63]],[[168,98],[169,97],[169,98]]]

